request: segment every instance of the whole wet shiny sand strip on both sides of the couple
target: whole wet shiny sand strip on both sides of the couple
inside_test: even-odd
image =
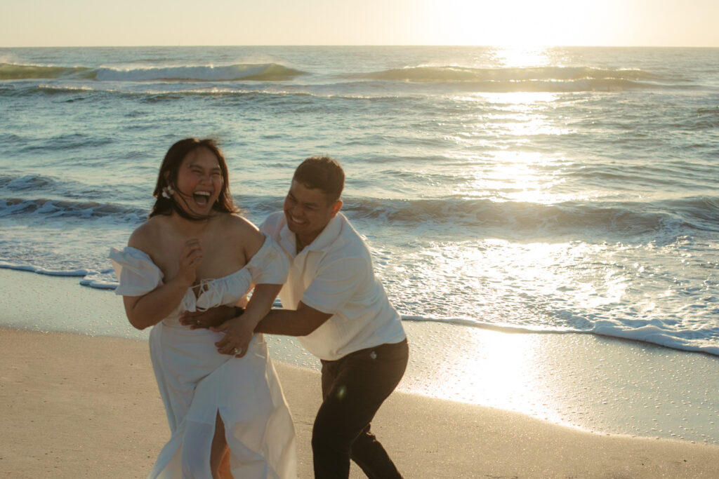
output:
[[[147,338],[114,293],[77,278],[0,269],[0,328],[65,329],[96,338]],[[509,333],[403,322],[408,370],[398,391],[514,411],[598,434],[719,445],[718,359],[596,335]],[[275,363],[319,370],[294,338],[266,336]]]

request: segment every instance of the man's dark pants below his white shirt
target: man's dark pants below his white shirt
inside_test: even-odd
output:
[[[370,422],[407,367],[407,340],[322,361],[322,396],[312,430],[315,478],[349,475],[349,459],[368,478],[401,478]]]

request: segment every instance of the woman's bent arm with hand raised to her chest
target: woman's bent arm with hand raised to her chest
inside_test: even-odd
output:
[[[196,239],[187,241],[180,254],[180,272],[177,276],[142,296],[123,297],[125,314],[130,324],[144,330],[170,315],[195,282],[195,271],[201,262],[200,242]]]

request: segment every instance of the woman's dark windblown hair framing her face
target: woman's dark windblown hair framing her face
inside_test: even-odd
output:
[[[173,144],[173,146],[168,149],[167,154],[165,154],[165,159],[162,160],[160,174],[157,175],[157,185],[155,185],[155,191],[152,192],[152,196],[157,198],[157,200],[155,200],[155,205],[153,205],[152,210],[150,210],[150,218],[155,215],[170,215],[173,211],[188,220],[206,220],[208,218],[201,215],[192,215],[178,205],[178,200],[175,200],[175,197],[185,201],[181,195],[175,195],[175,197],[170,198],[162,196],[162,190],[168,186],[175,190],[175,192],[178,192],[178,188],[175,185],[177,184],[180,165],[188,154],[200,148],[209,149],[215,155],[222,173],[222,189],[216,202],[212,205],[212,209],[221,213],[237,212],[237,208],[232,202],[232,195],[229,193],[227,164],[215,141],[212,139],[198,140],[195,138],[186,138]]]

